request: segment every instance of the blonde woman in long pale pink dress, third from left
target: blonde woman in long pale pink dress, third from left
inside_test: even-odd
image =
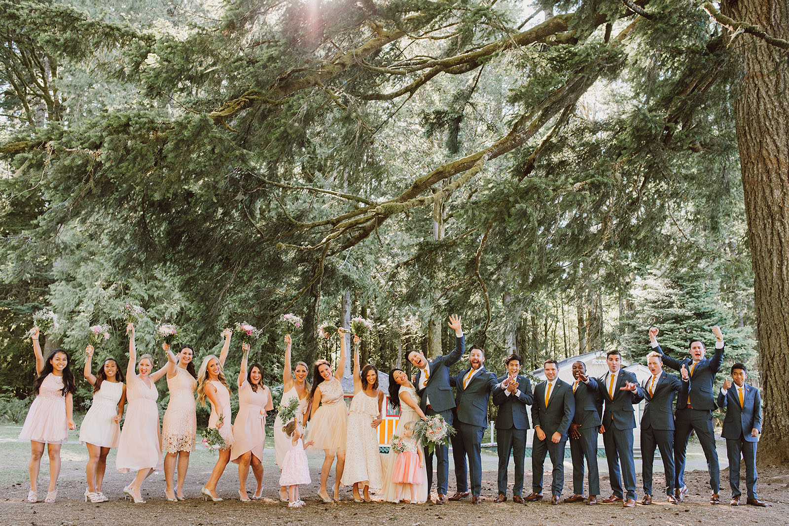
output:
[[[156,390],[156,380],[165,375],[167,366],[152,373],[153,357],[144,354],[140,356],[140,363],[137,364],[139,374],[134,374],[134,364],[137,360],[134,326],[129,323],[126,328],[129,330],[129,365],[126,367],[126,399],[129,405],[126,408],[121,439],[118,441],[115,465],[122,473],[137,472],[132,483],[123,488],[123,493],[136,504],[141,504],[145,502],[140,493],[143,480],[154,471],[161,471],[163,468],[159,407],[156,405],[159,391]]]

